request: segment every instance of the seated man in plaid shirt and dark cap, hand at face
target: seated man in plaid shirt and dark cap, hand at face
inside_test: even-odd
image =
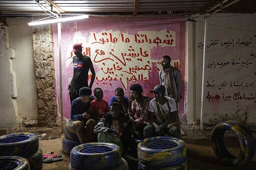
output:
[[[147,107],[150,98],[142,95],[142,87],[139,84],[130,86],[129,109],[128,114],[135,120],[133,124],[133,137],[135,139],[144,139],[143,129],[149,125],[147,119]]]

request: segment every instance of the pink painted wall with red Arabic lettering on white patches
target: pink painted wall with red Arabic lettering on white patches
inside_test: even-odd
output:
[[[56,94],[60,102],[57,24],[53,25],[56,68]],[[109,101],[114,89],[122,87],[129,96],[129,86],[138,83],[143,95],[153,97],[149,90],[159,84],[159,61],[170,55],[172,65],[182,75],[182,99],[179,114],[184,116],[185,22],[170,17],[90,17],[61,24],[63,116],[70,118],[67,85],[72,77],[72,44],[81,43],[90,56],[96,72],[92,86],[100,87]],[[59,107],[58,107],[59,109]]]

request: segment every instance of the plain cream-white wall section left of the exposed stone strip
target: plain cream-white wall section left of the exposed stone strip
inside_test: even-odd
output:
[[[0,56],[3,60],[0,62],[1,87],[4,88],[0,92],[0,108],[6,108],[3,112],[5,123],[1,123],[0,128],[15,127],[14,123],[19,123],[19,120],[26,124],[37,119],[32,28],[27,25],[28,21],[26,17],[6,19],[9,44],[6,51],[10,52]],[[2,33],[1,36],[4,37]],[[13,59],[9,59],[10,56]]]

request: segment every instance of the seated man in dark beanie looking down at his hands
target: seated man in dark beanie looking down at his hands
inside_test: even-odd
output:
[[[95,121],[90,119],[88,114],[89,105],[95,99],[91,96],[91,89],[89,87],[82,87],[79,89],[79,96],[72,101],[71,104],[71,120],[72,126],[76,130],[76,135],[81,144],[94,142],[95,134],[93,128]],[[86,125],[86,135],[84,133],[84,125]]]

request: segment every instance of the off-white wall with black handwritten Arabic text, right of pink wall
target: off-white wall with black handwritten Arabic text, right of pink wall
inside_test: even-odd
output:
[[[196,119],[200,119],[204,19],[203,15],[194,19]],[[205,123],[247,109],[248,122],[256,122],[256,14],[214,14],[208,18],[204,80]]]

